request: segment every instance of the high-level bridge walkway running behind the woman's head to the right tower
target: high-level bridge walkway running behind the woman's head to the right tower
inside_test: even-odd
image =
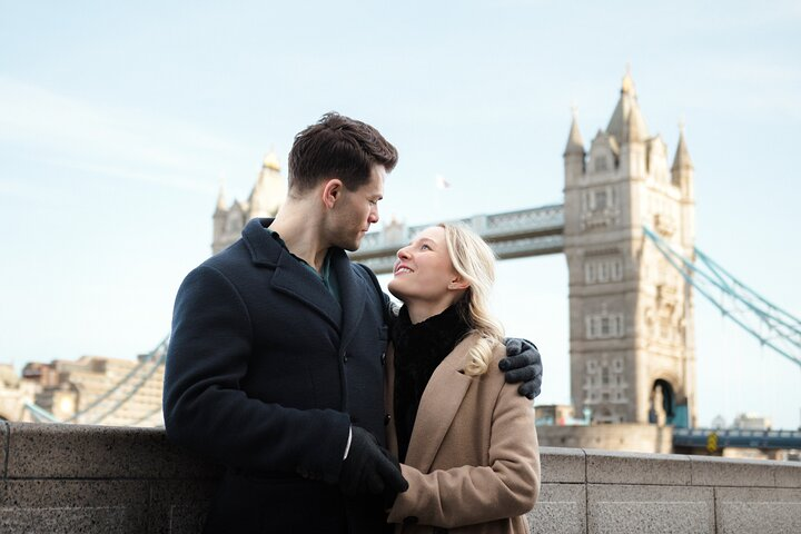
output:
[[[477,231],[501,259],[560,254],[564,250],[564,206],[561,204],[477,215],[459,219],[458,222]],[[431,224],[406,227],[389,222],[384,226],[384,231],[367,234],[359,249],[350,253],[350,258],[378,275],[392,273],[398,248],[428,226]]]

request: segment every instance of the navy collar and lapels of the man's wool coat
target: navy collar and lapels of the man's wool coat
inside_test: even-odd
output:
[[[322,314],[340,332],[340,347],[344,349],[357,332],[364,315],[366,293],[364,280],[353,271],[353,265],[345,251],[335,248],[330,265],[337,280],[342,306],[328,293],[319,277],[303,267],[298,268],[298,259],[281,247],[266,228],[275,219],[253,219],[243,230],[243,239],[250,251],[254,264],[275,268],[271,278],[273,288],[293,298],[297,298]]]

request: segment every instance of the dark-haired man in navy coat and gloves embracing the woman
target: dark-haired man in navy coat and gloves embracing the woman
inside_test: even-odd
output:
[[[345,255],[378,221],[396,162],[373,127],[324,116],[295,139],[276,218],[251,220],[178,290],[165,426],[227,467],[206,532],[373,534],[406,490],[384,447],[390,305]],[[505,365],[538,392],[536,349]]]

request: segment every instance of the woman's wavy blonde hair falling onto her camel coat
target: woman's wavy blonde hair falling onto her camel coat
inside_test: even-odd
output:
[[[501,323],[490,314],[490,294],[495,283],[495,254],[484,239],[464,225],[444,222],[448,256],[456,273],[469,283],[462,296],[462,313],[471,327],[471,334],[478,335],[478,342],[467,353],[465,374],[483,375],[490,367],[492,353],[504,343]]]

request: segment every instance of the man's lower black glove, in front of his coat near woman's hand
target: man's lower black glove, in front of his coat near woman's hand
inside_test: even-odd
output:
[[[350,449],[339,472],[339,487],[353,497],[360,493],[383,495],[408,490],[408,482],[400,474],[397,462],[378,445],[373,434],[358,426],[352,426]]]

